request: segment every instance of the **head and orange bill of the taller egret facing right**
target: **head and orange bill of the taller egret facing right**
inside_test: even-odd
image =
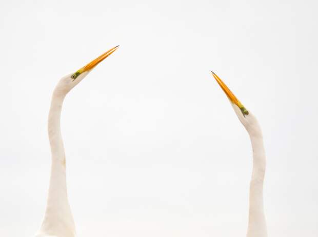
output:
[[[107,52],[103,53],[101,56],[95,58],[92,62],[85,65],[84,67],[78,69],[76,72],[70,73],[64,77],[58,82],[55,93],[58,94],[67,94],[73,87],[75,87],[79,82],[81,82],[85,76],[99,63],[101,63],[106,57],[108,57],[110,54],[112,54],[117,48],[116,46]]]

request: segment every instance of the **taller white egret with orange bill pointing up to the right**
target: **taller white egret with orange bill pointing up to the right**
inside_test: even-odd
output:
[[[44,220],[35,237],[75,236],[74,220],[67,198],[65,152],[60,127],[62,105],[66,94],[117,48],[108,50],[83,68],[62,77],[53,91],[48,120],[52,154],[50,187]]]

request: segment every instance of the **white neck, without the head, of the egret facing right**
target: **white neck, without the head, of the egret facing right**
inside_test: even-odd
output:
[[[65,151],[60,126],[65,95],[56,89],[52,95],[48,120],[52,166],[47,207],[40,233],[73,237],[75,225],[67,196]]]

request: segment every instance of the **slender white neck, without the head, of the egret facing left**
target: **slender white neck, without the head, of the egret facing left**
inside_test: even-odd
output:
[[[263,183],[266,169],[266,156],[262,131],[249,132],[253,148],[253,171],[249,195],[249,220],[247,237],[266,237],[267,228],[263,205]]]

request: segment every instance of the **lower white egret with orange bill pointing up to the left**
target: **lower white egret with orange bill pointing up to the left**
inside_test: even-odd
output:
[[[212,71],[211,71],[212,72]],[[250,182],[249,220],[247,237],[266,237],[267,228],[263,205],[263,183],[266,168],[265,149],[262,130],[256,117],[237,100],[235,95],[214,72],[218,85],[221,86],[241,123],[246,128],[253,148],[253,171]]]

